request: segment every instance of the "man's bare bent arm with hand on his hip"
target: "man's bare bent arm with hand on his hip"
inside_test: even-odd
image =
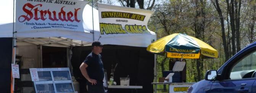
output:
[[[96,85],[97,84],[97,80],[95,79],[91,79],[88,74],[87,74],[87,70],[86,68],[88,67],[88,65],[86,63],[82,63],[81,66],[80,66],[80,70],[81,70],[81,73],[83,74],[83,76],[85,77],[85,79],[87,79],[89,82],[92,83],[92,85]]]

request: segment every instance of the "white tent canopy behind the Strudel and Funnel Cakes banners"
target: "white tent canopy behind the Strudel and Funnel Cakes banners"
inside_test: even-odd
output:
[[[6,9],[6,8],[1,8]],[[12,8],[10,11],[13,11]],[[93,18],[92,18],[93,15]],[[93,19],[93,20],[92,20]],[[10,19],[12,20],[12,19]],[[94,41],[99,40],[103,44],[114,44],[124,46],[147,47],[151,39],[156,39],[156,34],[150,31],[150,35],[120,36],[120,37],[100,37],[98,10],[86,5],[83,11],[84,32],[74,31],[37,31],[37,32],[17,32],[17,45],[44,45],[44,46],[90,46]],[[10,21],[11,22],[11,21]],[[13,23],[0,23],[0,37],[13,37]],[[93,24],[92,24],[93,23]],[[94,29],[93,29],[94,27]],[[94,34],[93,34],[94,33]],[[94,39],[93,39],[94,37]]]

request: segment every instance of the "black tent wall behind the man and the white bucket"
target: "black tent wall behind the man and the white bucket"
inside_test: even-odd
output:
[[[81,90],[85,89],[85,85],[82,84],[85,84],[86,80],[82,76],[79,66],[91,51],[91,46],[77,46],[72,49],[73,74],[81,84]],[[138,90],[139,93],[153,93],[151,82],[154,79],[154,54],[147,52],[146,47],[104,45],[101,55],[108,79],[111,73],[111,65],[114,68],[118,63],[114,72],[114,81],[117,82],[117,85],[120,84],[119,77],[129,75],[130,85],[143,86],[142,90]]]

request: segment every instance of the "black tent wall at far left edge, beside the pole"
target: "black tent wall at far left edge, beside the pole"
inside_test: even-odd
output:
[[[10,93],[13,38],[0,38],[0,43],[0,90],[1,93]]]

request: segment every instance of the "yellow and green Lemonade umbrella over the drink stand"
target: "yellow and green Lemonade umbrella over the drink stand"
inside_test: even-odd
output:
[[[182,33],[165,36],[147,47],[147,51],[171,58],[217,58],[218,51],[200,39]]]

